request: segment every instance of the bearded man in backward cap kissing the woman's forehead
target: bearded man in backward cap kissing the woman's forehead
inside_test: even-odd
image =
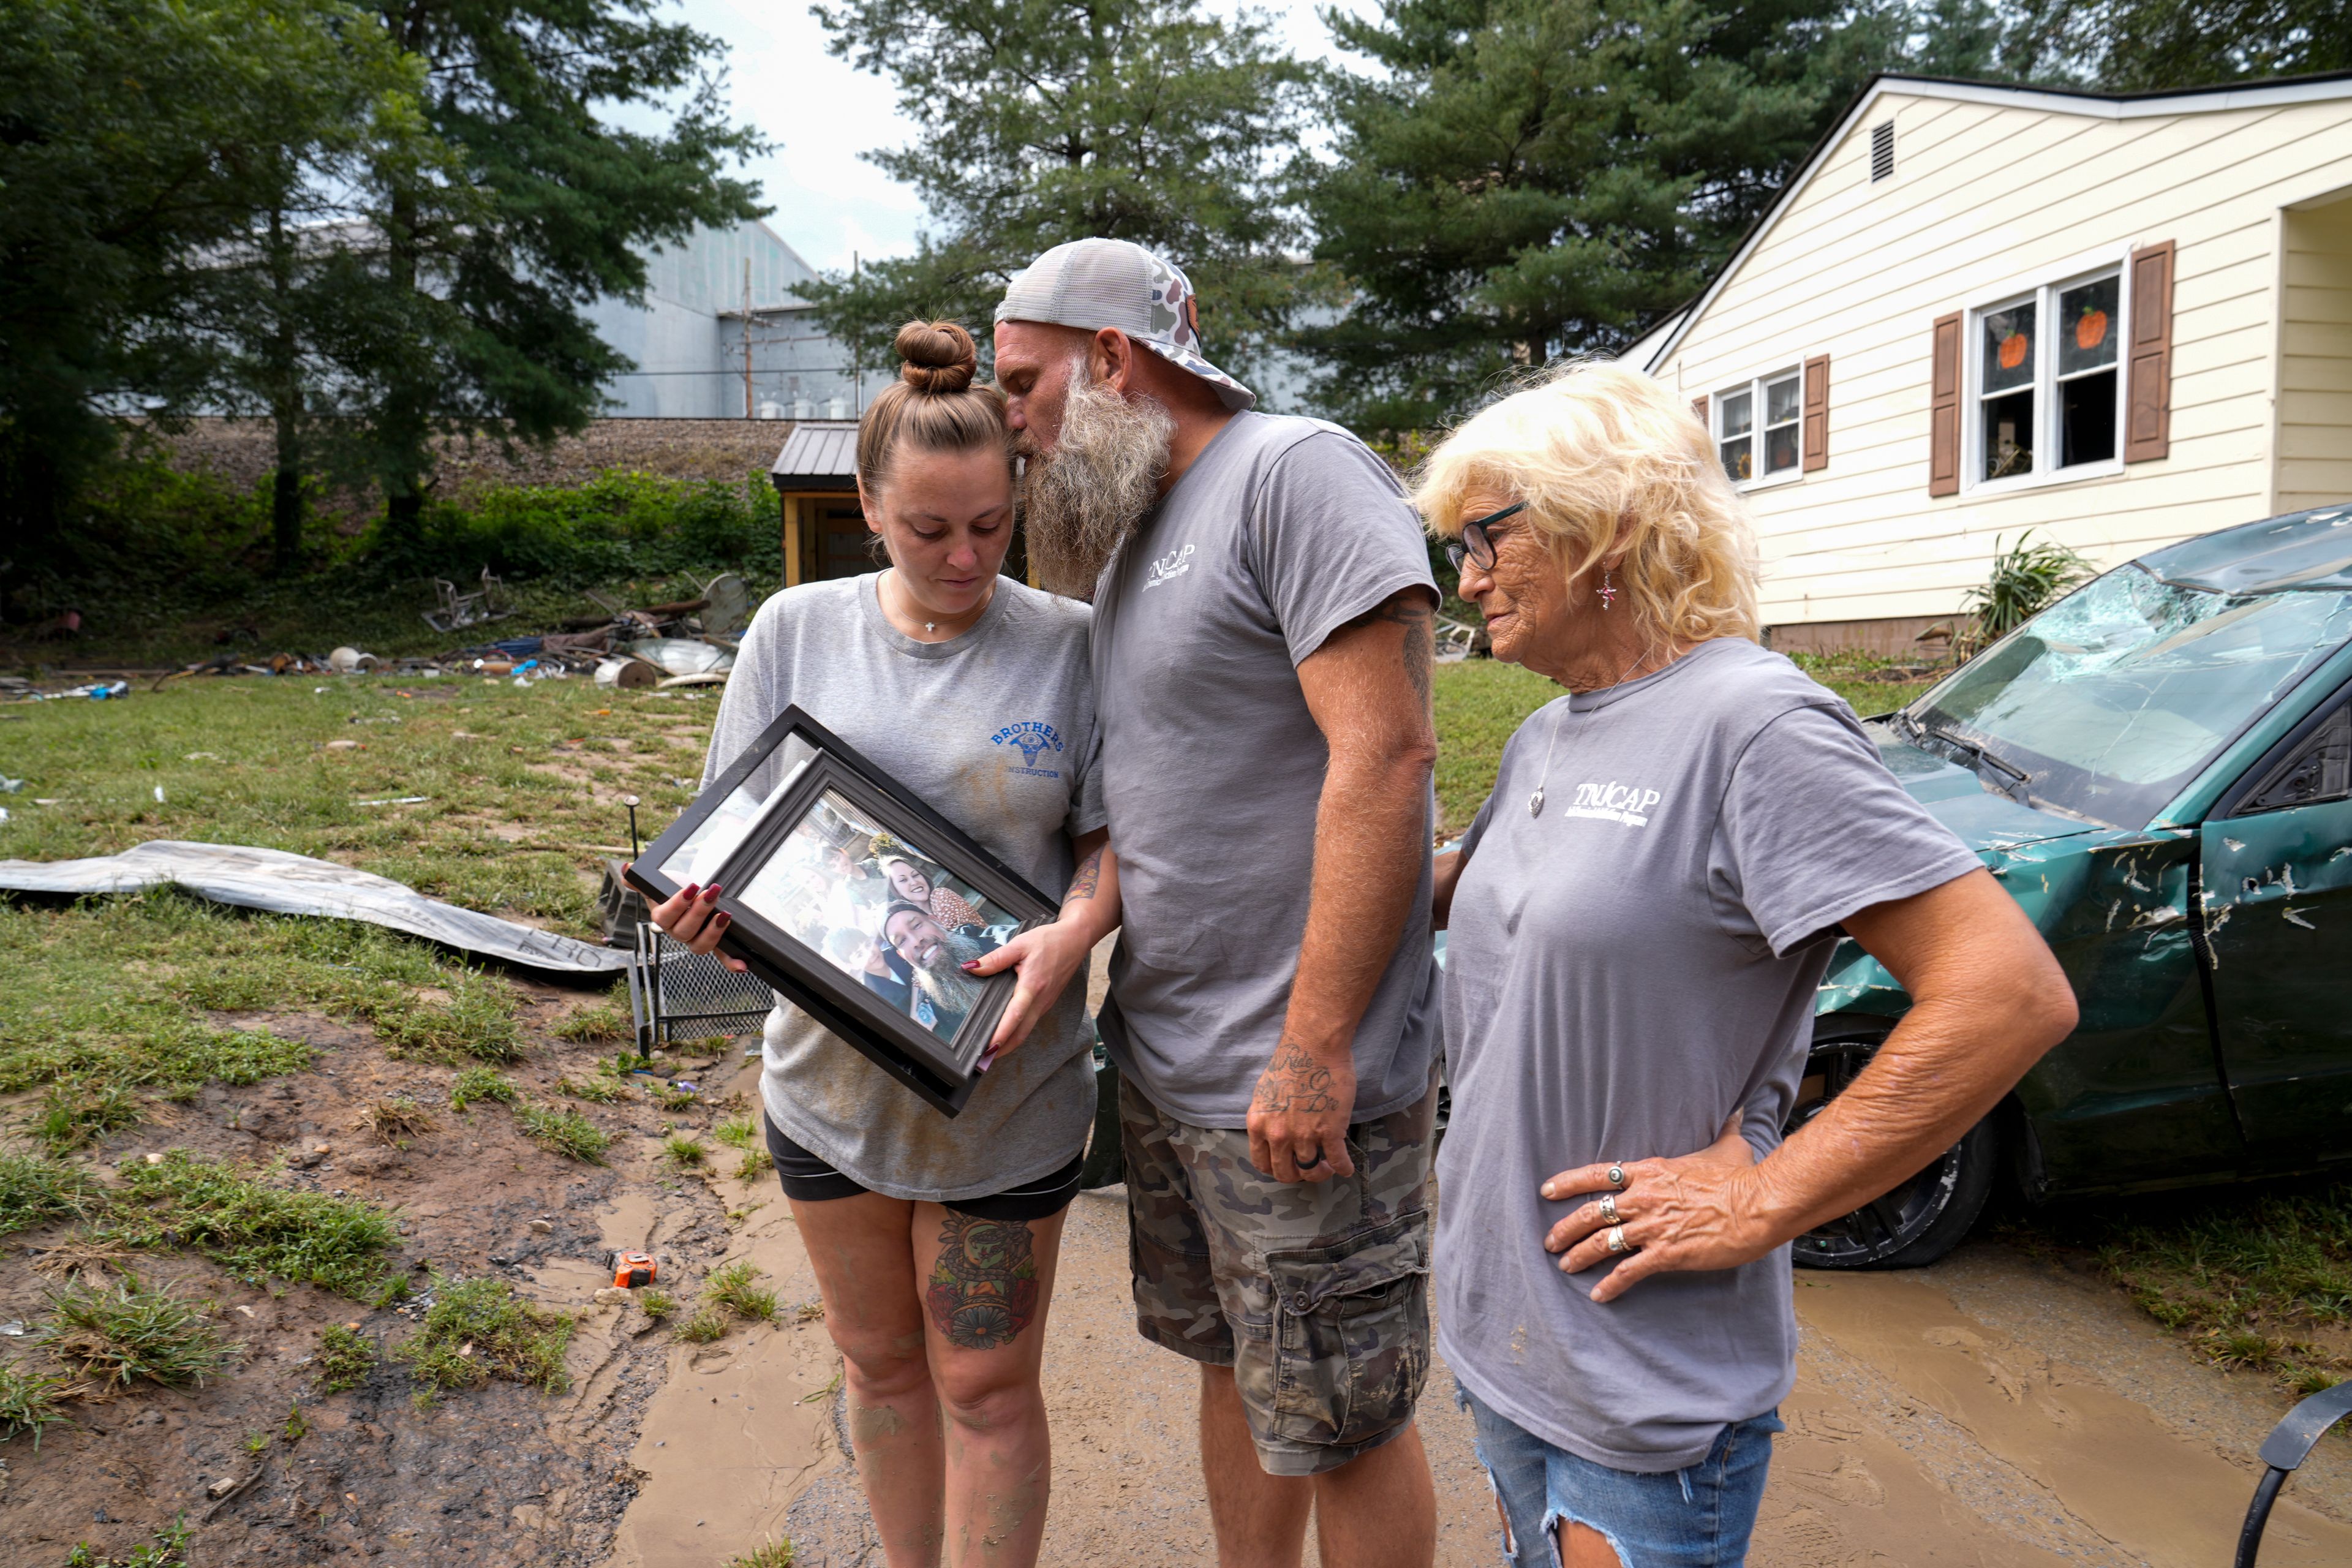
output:
[[[1425,1568],[1421,524],[1352,435],[1256,414],[1138,244],[1040,256],[995,348],[1030,562],[1094,599],[1136,1324],[1202,1363],[1218,1561],[1296,1568],[1312,1509],[1322,1561]]]

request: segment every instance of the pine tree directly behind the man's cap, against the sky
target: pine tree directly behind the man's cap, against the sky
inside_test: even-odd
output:
[[[898,85],[917,136],[873,162],[931,216],[913,256],[802,289],[868,362],[910,317],[985,343],[1007,280],[1087,235],[1183,266],[1225,369],[1247,374],[1279,331],[1301,289],[1282,165],[1305,71],[1263,16],[1195,0],[842,0],[816,16],[833,54]]]

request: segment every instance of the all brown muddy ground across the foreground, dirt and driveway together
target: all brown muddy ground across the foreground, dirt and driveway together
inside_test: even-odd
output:
[[[543,1034],[576,994],[532,994],[543,1044],[517,1077],[543,1093],[597,1048]],[[310,1288],[240,1286],[193,1260],[153,1265],[219,1302],[247,1342],[242,1363],[200,1392],[80,1406],[40,1453],[7,1443],[0,1561],[64,1568],[75,1542],[125,1556],[183,1514],[195,1568],[706,1568],[786,1537],[804,1568],[880,1568],[842,1446],[840,1363],[823,1324],[795,1309],[816,1286],[774,1178],[739,1182],[729,1150],[713,1147],[701,1173],[663,1157],[666,1131],[748,1103],[750,1063],[708,1063],[696,1112],[581,1107],[616,1133],[612,1164],[595,1168],[524,1143],[501,1105],[445,1114],[407,1152],[369,1145],[353,1128],[362,1105],[393,1091],[447,1103],[452,1072],[390,1063],[350,1025],[270,1025],[325,1046],[322,1072],[209,1088],[179,1124],[132,1131],[108,1159],[282,1150],[306,1166],[303,1182],[400,1206],[419,1281],[430,1269],[499,1274],[581,1314],[569,1392],[494,1385],[421,1410],[407,1373],[383,1363],[365,1387],[318,1396],[306,1356],[322,1326],[358,1321],[397,1342],[412,1319]],[[329,1154],[313,1157],[318,1145]],[[779,1293],[779,1316],[689,1345],[633,1305],[597,1302],[597,1260],[612,1246],[661,1255],[682,1302],[713,1267],[748,1258]],[[2249,1455],[2286,1396],[2194,1361],[2089,1262],[1978,1241],[1912,1274],[1797,1281],[1799,1380],[1783,1406],[1790,1432],[1776,1446],[1755,1563],[2230,1561],[2258,1476]],[[0,1319],[31,1314],[40,1288],[21,1267],[0,1279]],[[1214,1561],[1192,1458],[1195,1375],[1131,1331],[1120,1190],[1073,1208],[1049,1335],[1056,1474],[1044,1561]],[[1439,1563],[1486,1566],[1491,1502],[1449,1389],[1439,1366],[1423,1406]],[[289,1443],[296,1399],[308,1434]],[[259,1458],[247,1450],[254,1434],[266,1434]],[[212,1500],[216,1481],[235,1490]],[[2293,1479],[2263,1563],[2345,1561],[2352,1443],[2331,1439]]]

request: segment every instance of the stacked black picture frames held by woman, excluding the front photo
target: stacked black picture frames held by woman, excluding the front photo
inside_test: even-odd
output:
[[[764,795],[753,783],[762,771],[781,776]],[[891,1009],[795,931],[769,919],[757,903],[746,903],[757,891],[762,870],[786,851],[821,804],[833,816],[847,804],[858,818],[1009,914],[1018,931],[1058,914],[1054,900],[1025,877],[802,708],[786,708],[675,823],[644,846],[628,867],[628,884],[656,905],[675,898],[689,882],[717,884],[722,889],[717,907],[729,917],[727,936],[720,938],[722,952],[743,959],[762,983],[856,1046],[927,1105],[955,1117],[978,1084],[978,1063],[1004,1016],[1004,1004],[1011,1001],[1014,976],[1007,971],[983,980],[955,1034],[941,1039],[915,1016]]]

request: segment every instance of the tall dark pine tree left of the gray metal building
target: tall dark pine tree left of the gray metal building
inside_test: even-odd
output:
[[[757,216],[722,174],[762,146],[729,127],[717,40],[654,21],[659,0],[379,0],[386,35],[428,61],[423,120],[459,179],[372,172],[383,296],[341,362],[383,487],[386,543],[421,538],[437,435],[499,442],[581,430],[628,360],[581,308],[637,299],[644,249]],[[619,113],[668,115],[626,129]]]

